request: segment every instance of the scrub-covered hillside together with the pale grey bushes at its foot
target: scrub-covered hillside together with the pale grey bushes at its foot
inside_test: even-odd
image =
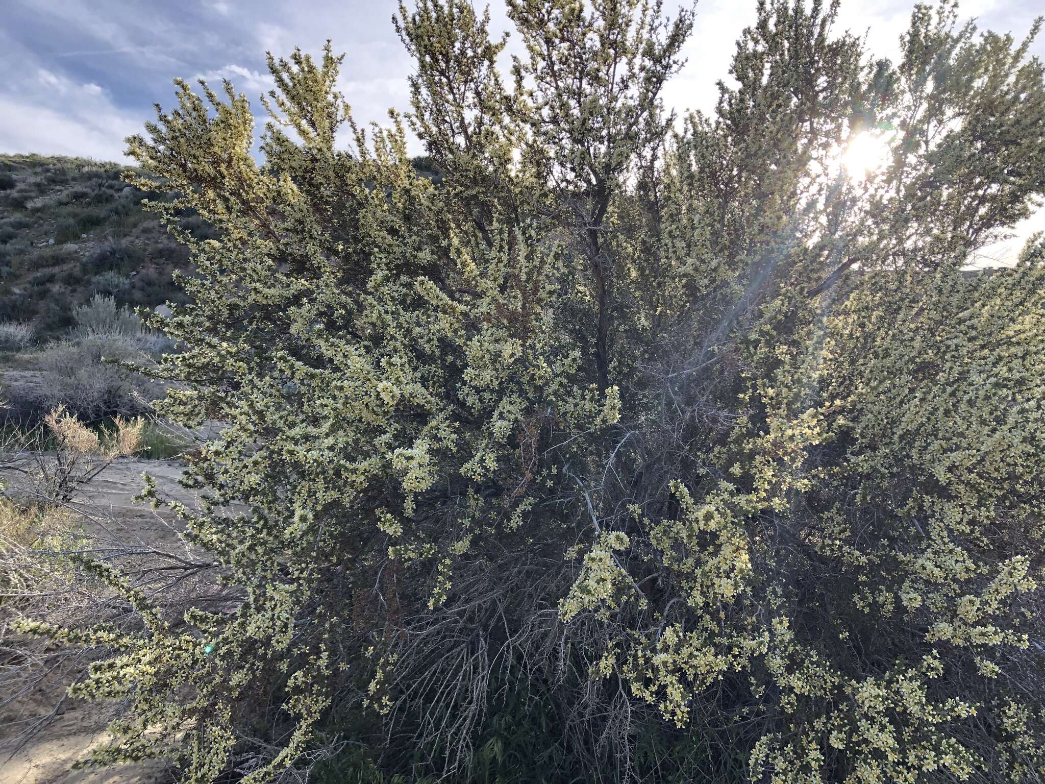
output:
[[[55,406],[88,421],[138,414],[160,388],[103,362],[149,363],[170,346],[133,310],[181,302],[171,274],[189,253],[142,207],[124,166],[0,155],[0,416]],[[213,236],[198,215],[181,226]]]

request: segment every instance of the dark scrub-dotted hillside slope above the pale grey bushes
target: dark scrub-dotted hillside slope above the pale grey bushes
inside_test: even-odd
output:
[[[119,305],[178,300],[171,272],[188,253],[126,185],[126,167],[85,158],[0,155],[0,322],[21,322],[33,342],[73,325],[98,294]],[[183,226],[207,227],[194,215]]]

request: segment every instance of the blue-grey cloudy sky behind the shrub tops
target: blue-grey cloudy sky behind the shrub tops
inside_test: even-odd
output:
[[[674,4],[666,0],[665,7]],[[503,0],[490,5],[491,26],[507,29]],[[838,26],[866,36],[877,55],[895,56],[911,5],[842,0]],[[315,52],[327,39],[346,53],[341,89],[355,119],[385,121],[390,107],[410,108],[411,62],[391,22],[397,7],[395,0],[0,0],[0,153],[129,162],[123,138],[153,117],[155,102],[170,108],[173,77],[215,85],[228,77],[260,114],[255,99],[271,87],[265,51],[284,55],[300,46]],[[679,113],[714,107],[715,82],[726,76],[754,8],[754,0],[698,0],[687,64],[666,87],[667,106]],[[1040,0],[966,0],[960,6],[980,29],[1018,40],[1042,13]],[[1032,52],[1045,59],[1045,36]],[[422,152],[414,144],[412,152]],[[1043,230],[1040,210],[1017,227],[1016,237],[983,255],[1012,261],[1023,239]]]

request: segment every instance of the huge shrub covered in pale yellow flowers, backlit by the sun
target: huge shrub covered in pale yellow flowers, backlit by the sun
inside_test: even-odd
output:
[[[146,319],[162,413],[229,423],[173,506],[235,602],[89,566],[139,619],[75,632],[129,705],[94,760],[464,775],[522,733],[562,781],[1036,781],[1045,246],[962,273],[1045,192],[1028,44],[920,6],[892,65],[760,4],[676,133],[689,11],[508,9],[513,87],[469,3],[400,6],[438,184],[329,46],[270,57],[262,163],[231,85],[130,139],[199,271]]]

